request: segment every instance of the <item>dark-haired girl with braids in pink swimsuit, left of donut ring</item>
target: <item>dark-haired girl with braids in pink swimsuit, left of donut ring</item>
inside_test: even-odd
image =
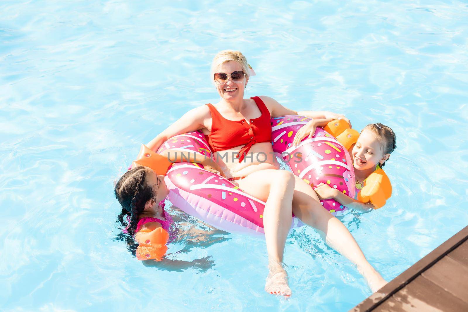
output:
[[[174,157],[174,162],[181,161],[182,155]],[[219,173],[217,164],[209,158],[192,159],[204,165],[205,170]],[[164,182],[164,176],[157,174],[149,167],[138,166],[128,170],[116,183],[115,196],[122,206],[122,212],[117,216],[120,223],[126,226],[124,232],[130,234],[139,243],[136,256],[139,260],[162,260],[167,251],[166,244],[176,238],[177,232],[173,218],[164,210],[164,199],[169,189]],[[124,217],[127,217],[125,222]],[[128,224],[127,224],[128,223]],[[199,235],[194,240],[204,241],[207,235],[222,231],[198,231],[191,228],[188,233]],[[223,232],[224,233],[224,232]]]

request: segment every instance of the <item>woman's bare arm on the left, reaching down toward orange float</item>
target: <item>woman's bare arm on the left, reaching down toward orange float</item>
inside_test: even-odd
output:
[[[168,140],[178,134],[190,131],[197,131],[205,128],[205,121],[209,118],[210,109],[206,106],[200,106],[190,109],[175,123],[168,126],[164,131],[152,139],[146,146],[154,152],[157,152],[159,147]]]

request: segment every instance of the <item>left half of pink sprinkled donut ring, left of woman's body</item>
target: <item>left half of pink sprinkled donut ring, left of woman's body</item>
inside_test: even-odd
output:
[[[168,139],[158,153],[165,150],[196,152],[212,158],[205,135],[188,132]],[[226,232],[264,235],[265,202],[250,196],[231,181],[203,169],[196,163],[175,163],[164,179],[169,201],[193,217]],[[292,226],[303,225],[294,218]]]

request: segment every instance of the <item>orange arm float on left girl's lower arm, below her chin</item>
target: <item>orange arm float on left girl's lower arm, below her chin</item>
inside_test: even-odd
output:
[[[168,231],[162,227],[158,227],[156,230],[141,229],[135,234],[135,239],[139,242],[137,248],[137,259],[138,260],[150,260],[161,261],[168,247],[166,244],[169,240]]]

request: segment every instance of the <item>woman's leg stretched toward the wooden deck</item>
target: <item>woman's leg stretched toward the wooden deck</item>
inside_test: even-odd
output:
[[[292,199],[294,215],[305,224],[312,226],[330,247],[356,264],[359,273],[366,278],[372,291],[379,290],[387,282],[367,261],[346,226],[323,208],[314,189],[297,176],[295,180]]]

